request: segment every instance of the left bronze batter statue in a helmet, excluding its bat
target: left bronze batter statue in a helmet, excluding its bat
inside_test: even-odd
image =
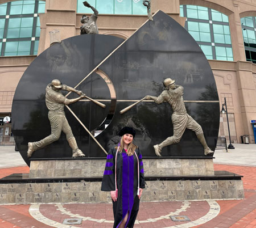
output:
[[[76,92],[80,95],[78,98],[67,99],[60,90]],[[51,134],[38,142],[28,142],[27,157],[30,158],[35,150],[42,149],[43,147],[59,140],[61,131],[66,134],[69,146],[72,148],[72,157],[85,157],[84,153],[79,149],[76,139],[73,136],[71,127],[65,117],[64,105],[75,103],[86,95],[75,88],[61,84],[58,79],[53,79],[46,87],[46,106],[49,109],[48,118],[51,124]]]

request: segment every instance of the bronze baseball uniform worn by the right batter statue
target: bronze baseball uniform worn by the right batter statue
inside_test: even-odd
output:
[[[153,97],[154,98],[154,97]],[[193,130],[196,135],[203,134],[201,126],[188,115],[183,100],[183,87],[178,86],[174,90],[164,90],[157,98],[154,98],[155,103],[160,104],[164,101],[168,102],[174,113],[172,113],[172,124],[174,125],[174,135],[168,137],[161,146],[168,146],[178,143],[183,136],[186,128]],[[159,145],[159,146],[160,146]]]

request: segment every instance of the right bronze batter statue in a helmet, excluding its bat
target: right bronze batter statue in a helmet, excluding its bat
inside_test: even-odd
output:
[[[196,133],[197,138],[204,146],[204,154],[212,155],[213,151],[207,145],[207,142],[204,138],[204,132],[201,126],[188,115],[185,108],[183,100],[183,87],[175,85],[175,81],[171,78],[166,78],[163,81],[165,90],[158,97],[156,96],[146,96],[147,100],[154,100],[156,104],[163,103],[164,101],[168,102],[174,113],[172,113],[172,124],[174,125],[174,135],[168,137],[166,140],[161,142],[158,145],[154,146],[155,154],[161,156],[161,151],[164,146],[172,145],[178,143],[185,132],[185,129],[188,128],[193,130]]]

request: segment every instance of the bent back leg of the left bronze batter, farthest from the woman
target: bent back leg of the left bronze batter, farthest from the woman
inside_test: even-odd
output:
[[[27,157],[30,158],[34,151],[42,149],[43,147],[51,144],[59,140],[61,134],[61,128],[63,125],[64,115],[56,113],[56,112],[49,112],[48,118],[51,124],[51,134],[43,140],[37,142],[28,142],[28,151]]]

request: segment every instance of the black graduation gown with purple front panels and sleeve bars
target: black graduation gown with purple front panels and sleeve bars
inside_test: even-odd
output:
[[[106,167],[102,179],[101,191],[115,191],[115,155],[117,149],[112,147],[106,159]],[[133,227],[139,211],[139,188],[145,188],[142,154],[139,148],[135,149],[133,156],[128,156],[126,151],[117,153],[117,201],[113,202],[114,228],[118,227],[122,219],[129,212],[125,227]],[[138,159],[137,159],[138,158]],[[139,164],[138,164],[139,162]],[[139,165],[139,169],[138,169]],[[139,175],[138,175],[139,174]],[[139,176],[139,180],[138,180]]]

